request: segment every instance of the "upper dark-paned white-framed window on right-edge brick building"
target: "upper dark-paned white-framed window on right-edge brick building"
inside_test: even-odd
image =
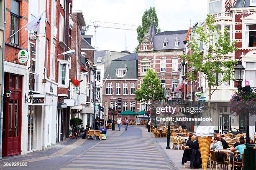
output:
[[[246,25],[246,47],[256,47],[256,24]]]

